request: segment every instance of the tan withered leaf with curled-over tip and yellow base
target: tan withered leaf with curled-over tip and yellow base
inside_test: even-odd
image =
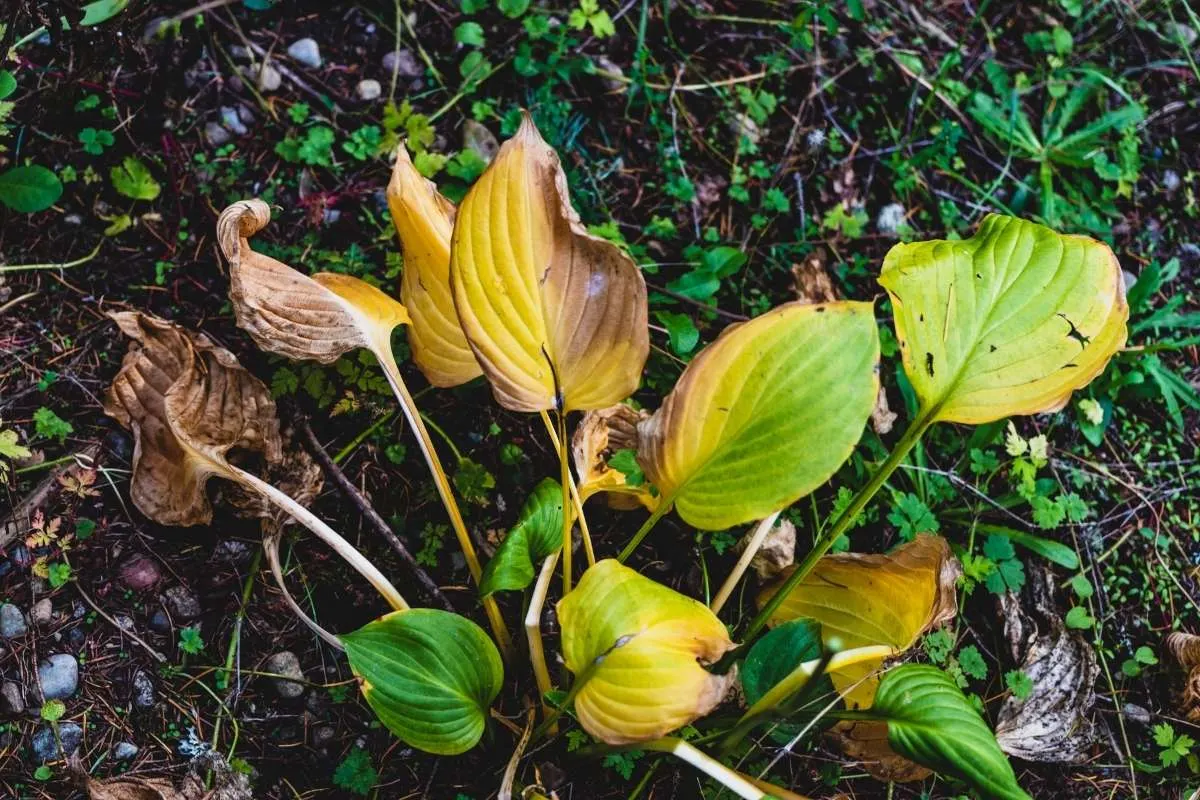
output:
[[[298,272],[250,247],[271,221],[262,200],[240,200],[217,221],[217,242],[229,261],[229,299],[238,325],[258,347],[289,359],[336,361],[367,348],[391,360],[391,331],[408,321],[402,305],[347,275]]]

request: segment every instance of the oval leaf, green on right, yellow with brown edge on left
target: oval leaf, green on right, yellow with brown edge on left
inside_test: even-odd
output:
[[[726,330],[638,426],[664,501],[706,530],[784,509],[850,458],[878,392],[868,302],[787,303]]]

